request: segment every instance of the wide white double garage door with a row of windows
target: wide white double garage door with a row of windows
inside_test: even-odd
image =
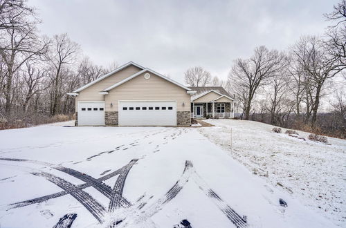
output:
[[[176,101],[120,101],[119,126],[176,126]]]

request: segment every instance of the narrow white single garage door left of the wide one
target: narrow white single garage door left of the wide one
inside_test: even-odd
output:
[[[78,126],[104,125],[104,102],[78,102]]]

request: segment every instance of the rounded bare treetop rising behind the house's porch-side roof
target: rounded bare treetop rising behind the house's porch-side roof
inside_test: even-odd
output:
[[[199,87],[209,84],[211,75],[207,70],[204,70],[200,66],[195,66],[186,70],[185,83],[190,86]]]

